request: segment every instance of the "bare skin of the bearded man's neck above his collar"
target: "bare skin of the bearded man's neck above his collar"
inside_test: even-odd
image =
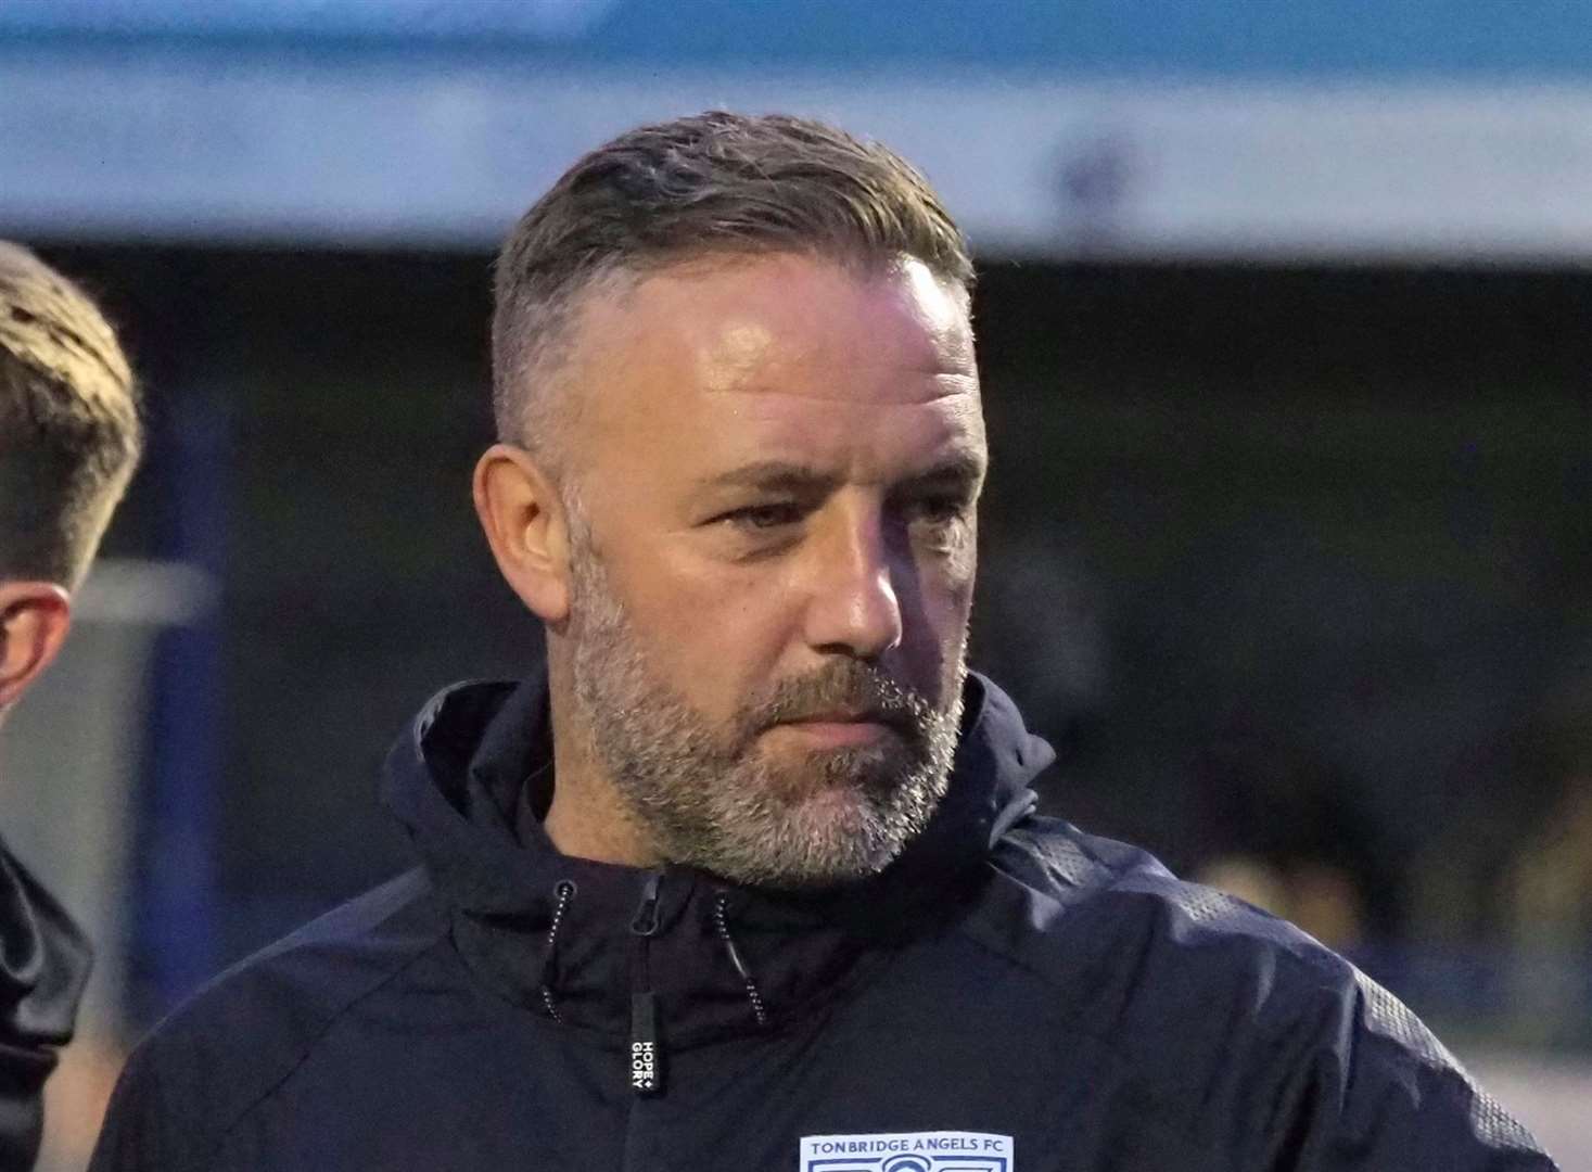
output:
[[[560,675],[549,670],[552,804],[543,830],[562,855],[621,866],[657,866],[664,860],[595,760],[591,728],[579,718]]]

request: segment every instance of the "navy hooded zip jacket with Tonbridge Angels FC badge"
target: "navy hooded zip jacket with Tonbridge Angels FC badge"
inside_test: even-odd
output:
[[[159,1027],[92,1172],[1552,1167],[1345,960],[1036,817],[968,686],[930,828],[801,897],[559,855],[544,686],[444,693],[385,782],[423,865]]]

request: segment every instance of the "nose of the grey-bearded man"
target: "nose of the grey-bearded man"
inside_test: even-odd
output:
[[[882,518],[837,518],[817,543],[807,605],[807,645],[826,654],[877,659],[901,645],[901,600]]]

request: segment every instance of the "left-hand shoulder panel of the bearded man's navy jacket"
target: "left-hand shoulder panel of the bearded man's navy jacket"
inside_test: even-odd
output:
[[[430,881],[416,868],[209,981],[134,1049],[91,1167],[204,1167],[341,1014],[446,930]]]

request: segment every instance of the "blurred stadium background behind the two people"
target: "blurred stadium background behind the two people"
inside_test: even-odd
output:
[[[196,984],[409,863],[388,742],[538,654],[468,500],[490,256],[705,107],[981,256],[974,664],[1044,803],[1345,951],[1592,1167],[1592,5],[5,0],[0,236],[151,449],[0,826],[91,928],[45,1167]]]

